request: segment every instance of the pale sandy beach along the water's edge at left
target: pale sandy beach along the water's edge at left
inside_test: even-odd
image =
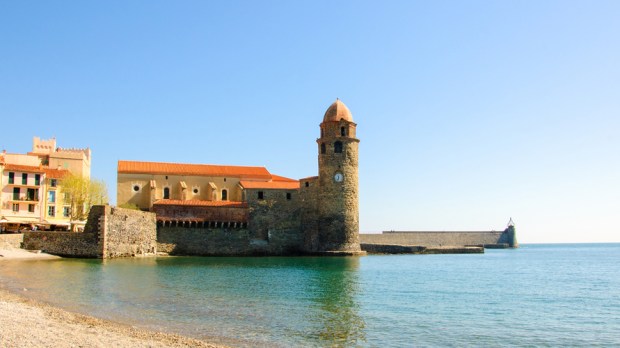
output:
[[[0,262],[54,259],[21,249],[0,250]],[[0,286],[1,347],[222,347],[68,312]]]

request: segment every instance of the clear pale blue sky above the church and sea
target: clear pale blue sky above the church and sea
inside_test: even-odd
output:
[[[620,1],[0,1],[0,147],[317,174],[358,123],[360,228],[620,241]]]

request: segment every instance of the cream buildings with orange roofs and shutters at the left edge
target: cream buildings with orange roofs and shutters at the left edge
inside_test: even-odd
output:
[[[66,230],[71,206],[62,190],[68,173],[90,177],[90,149],[61,149],[33,138],[32,152],[0,154],[0,228]]]

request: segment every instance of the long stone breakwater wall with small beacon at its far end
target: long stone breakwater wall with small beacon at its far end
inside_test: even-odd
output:
[[[360,234],[363,244],[437,246],[505,246],[517,247],[514,228],[504,231],[471,232],[383,232],[382,234]]]

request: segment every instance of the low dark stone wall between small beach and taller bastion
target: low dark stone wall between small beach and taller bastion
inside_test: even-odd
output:
[[[26,232],[23,248],[66,257],[101,257],[96,233]]]

